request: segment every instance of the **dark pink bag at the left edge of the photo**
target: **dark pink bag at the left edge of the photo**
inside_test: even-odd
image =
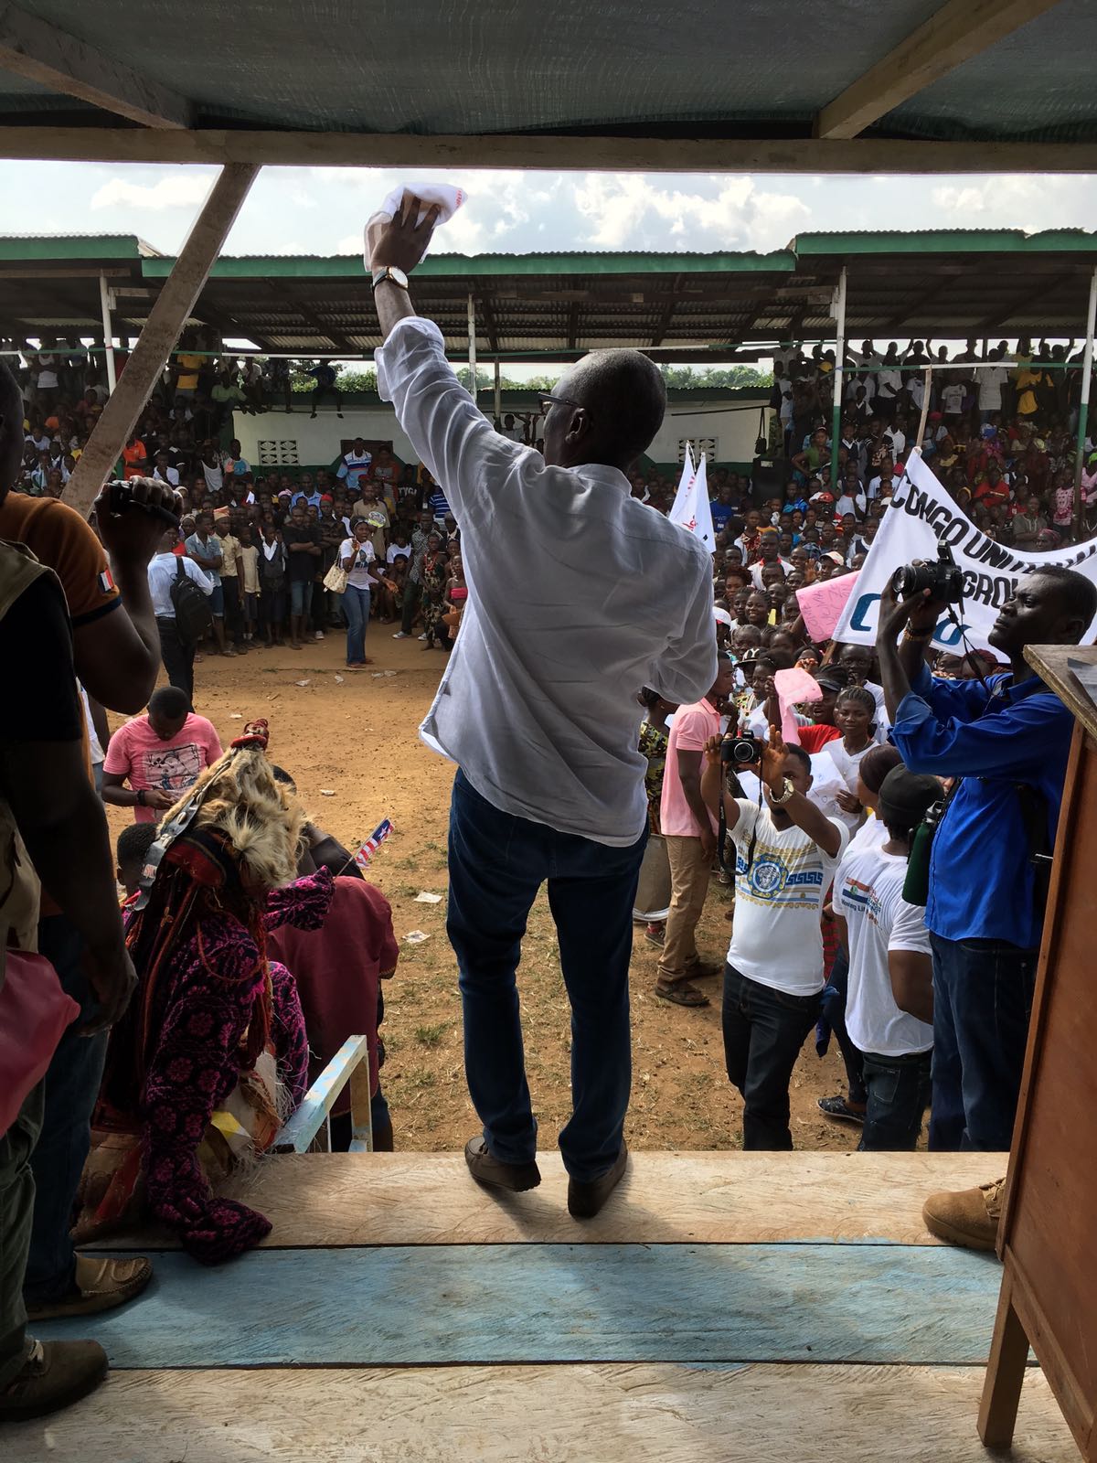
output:
[[[38,1086],[64,1031],[80,1014],[45,955],[3,952],[0,985],[0,1137]]]

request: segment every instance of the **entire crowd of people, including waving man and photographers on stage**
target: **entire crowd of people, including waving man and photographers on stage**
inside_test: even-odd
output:
[[[818,420],[834,363],[818,357],[809,392],[803,357],[778,361],[778,420],[791,383],[784,458],[746,478],[714,474],[709,553],[668,522],[660,474],[635,468],[666,408],[645,357],[575,366],[543,398],[532,442],[532,421],[494,430],[478,413],[411,304],[407,272],[437,217],[411,202],[372,222],[370,250],[379,386],[423,465],[355,439],[293,483],[253,473],[238,442],[215,439],[233,410],[260,410],[262,376],[230,370],[206,394],[208,342],[192,338],[171,413],[146,417],[123,454],[132,503],[101,494],[92,528],[57,502],[56,478],[41,489],[25,475],[41,435],[66,445],[73,380],[94,413],[76,353],[37,356],[34,405],[0,369],[0,648],[20,688],[0,737],[0,998],[28,970],[41,990],[41,957],[57,973],[50,1009],[18,1052],[3,1048],[0,1418],[64,1406],[105,1372],[97,1343],[37,1342],[28,1314],[94,1315],[151,1279],[146,1260],[78,1242],[152,1214],[215,1264],[268,1233],[219,1179],[271,1147],[348,1034],[369,1037],[374,1132],[392,1146],[377,1036],[396,964],[389,907],[309,819],[275,762],[276,729],[249,721],[225,749],[195,712],[203,606],[225,655],[287,633],[300,648],[341,620],[354,669],[373,614],[399,622],[396,638],[421,619],[427,647],[453,650],[423,736],[458,764],[448,933],[477,1182],[540,1182],[516,967],[544,882],[572,1004],[560,1153],[576,1220],[626,1172],[638,922],[660,948],[668,1015],[706,1005],[705,980],[723,980],[744,1147],[791,1147],[791,1071],[813,1031],[819,1048],[835,1037],[848,1075],[821,1106],[860,1128],[862,1148],[913,1148],[926,1112],[933,1148],[1009,1147],[1040,857],[1072,732],[1024,647],[1078,644],[1097,590],[1066,569],[1024,576],[986,655],[930,657],[940,606],[891,591],[875,650],[812,642],[796,590],[869,552],[907,449],[902,408],[921,407],[919,360],[891,353],[864,373],[872,391],[856,386],[837,494]],[[1049,389],[1040,376],[1018,373],[1015,399],[986,408],[949,380],[939,424],[929,417],[927,454],[995,531],[1024,515],[987,503],[989,480],[1009,474],[1027,505],[1030,456],[1050,461],[1028,410]],[[316,380],[322,401],[335,382]],[[206,436],[200,413],[215,405],[228,417]],[[1069,407],[1068,386],[1066,426]],[[976,410],[987,413],[977,432]],[[1002,467],[996,452],[1009,454]],[[48,474],[61,471],[51,458]],[[168,685],[154,691],[161,663]],[[783,672],[797,677],[791,708]],[[108,736],[101,708],[133,720]],[[104,802],[133,811],[117,844],[121,903]],[[714,878],[734,904],[727,952],[705,961],[696,932]],[[930,1197],[926,1222],[992,1248],[999,1207],[990,1181]]]

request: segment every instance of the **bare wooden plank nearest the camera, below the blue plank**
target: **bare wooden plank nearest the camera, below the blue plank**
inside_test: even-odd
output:
[[[4,1429],[12,1463],[986,1463],[981,1368],[120,1372]],[[1011,1463],[1077,1463],[1043,1374]]]

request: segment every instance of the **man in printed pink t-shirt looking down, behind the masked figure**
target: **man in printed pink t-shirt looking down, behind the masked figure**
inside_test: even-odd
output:
[[[161,686],[149,698],[148,715],[127,721],[110,739],[102,800],[132,808],[137,822],[155,822],[219,756],[214,723],[193,714],[178,686]]]

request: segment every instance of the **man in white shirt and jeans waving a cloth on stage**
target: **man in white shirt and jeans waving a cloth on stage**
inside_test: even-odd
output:
[[[663,420],[658,370],[635,351],[579,361],[541,399],[544,455],[491,429],[415,316],[405,271],[437,209],[369,228],[385,345],[377,386],[461,522],[468,607],[429,746],[459,764],[449,938],[481,1184],[540,1182],[515,970],[541,884],[572,1001],[573,1113],[560,1134],[568,1207],[595,1214],[625,1172],[632,907],[646,838],[636,695],[676,704],[715,680],[712,560],[630,496],[627,470]]]

